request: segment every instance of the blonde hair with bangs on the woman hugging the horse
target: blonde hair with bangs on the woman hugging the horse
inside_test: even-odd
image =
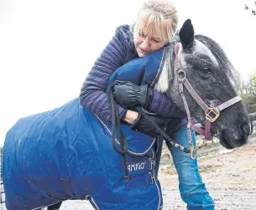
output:
[[[170,41],[177,24],[177,10],[170,0],[147,0],[138,12],[133,33],[143,32],[149,37]]]

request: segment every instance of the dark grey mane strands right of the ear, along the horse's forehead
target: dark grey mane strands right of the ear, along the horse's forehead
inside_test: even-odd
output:
[[[240,84],[240,77],[238,71],[233,67],[230,60],[227,59],[227,54],[225,54],[220,45],[212,40],[212,38],[206,37],[201,34],[196,34],[195,38],[202,44],[205,44],[206,47],[212,51],[212,54],[215,56],[218,64],[220,65],[220,69],[225,71],[227,77],[231,80],[235,90],[238,90],[238,86]]]

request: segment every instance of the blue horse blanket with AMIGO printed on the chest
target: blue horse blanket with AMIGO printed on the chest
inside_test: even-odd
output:
[[[112,74],[109,85],[118,79],[154,86],[164,51],[124,64]],[[3,146],[8,210],[30,210],[67,199],[89,199],[102,210],[161,209],[157,171],[162,140],[122,124],[132,177],[126,182],[122,157],[112,149],[111,129],[82,108],[79,99],[18,120]]]

